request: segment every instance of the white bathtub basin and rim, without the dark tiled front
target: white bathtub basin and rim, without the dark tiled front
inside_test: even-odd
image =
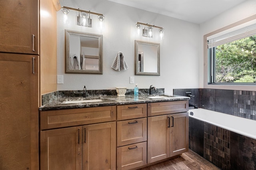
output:
[[[254,120],[206,109],[190,109],[188,113],[194,119],[256,139],[256,121]]]

